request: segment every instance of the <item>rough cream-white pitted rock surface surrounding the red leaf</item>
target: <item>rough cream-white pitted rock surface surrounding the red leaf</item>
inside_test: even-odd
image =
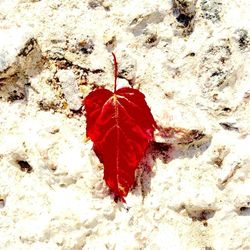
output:
[[[0,1],[1,249],[250,249],[249,9]],[[111,51],[160,127],[124,205],[78,111]]]

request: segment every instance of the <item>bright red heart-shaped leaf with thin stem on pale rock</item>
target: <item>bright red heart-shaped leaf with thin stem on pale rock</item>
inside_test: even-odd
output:
[[[156,122],[137,89],[116,90],[118,66],[114,58],[114,92],[101,88],[92,91],[83,101],[86,111],[86,134],[104,165],[104,180],[125,202],[134,184],[135,170],[149,143],[154,139]]]

